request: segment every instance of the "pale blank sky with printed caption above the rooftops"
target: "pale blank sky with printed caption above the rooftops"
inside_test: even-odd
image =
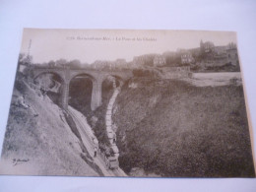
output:
[[[201,39],[213,41],[215,45],[226,45],[229,42],[236,43],[236,33],[25,29],[21,52],[30,53],[33,63],[61,58],[78,59],[82,63],[119,58],[132,61],[138,55],[199,47]]]

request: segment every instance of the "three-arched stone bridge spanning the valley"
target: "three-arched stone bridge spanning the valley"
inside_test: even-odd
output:
[[[61,86],[61,104],[63,109],[68,108],[69,85],[73,78],[77,76],[86,76],[93,82],[93,94],[91,108],[95,110],[101,105],[101,86],[102,82],[108,77],[116,77],[126,81],[133,76],[131,70],[98,70],[98,69],[71,69],[71,68],[50,68],[50,67],[32,67],[32,78],[36,79],[41,74],[58,75],[62,82]]]

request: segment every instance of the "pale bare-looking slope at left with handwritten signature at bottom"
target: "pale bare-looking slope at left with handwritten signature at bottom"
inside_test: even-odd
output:
[[[24,86],[24,85],[22,85]],[[89,175],[98,173],[81,158],[79,139],[72,133],[62,111],[46,97],[42,100],[28,87],[27,102],[31,109],[11,106],[2,151],[1,172],[33,175]],[[14,91],[12,103],[21,93]],[[62,114],[62,117],[60,116]],[[17,165],[13,159],[29,160]]]

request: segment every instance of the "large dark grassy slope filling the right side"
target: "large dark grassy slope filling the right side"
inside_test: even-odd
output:
[[[253,176],[242,87],[134,79],[117,96],[120,166],[162,176]]]

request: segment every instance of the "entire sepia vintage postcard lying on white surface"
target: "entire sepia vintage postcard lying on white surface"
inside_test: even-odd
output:
[[[235,32],[25,29],[1,174],[254,177]]]

